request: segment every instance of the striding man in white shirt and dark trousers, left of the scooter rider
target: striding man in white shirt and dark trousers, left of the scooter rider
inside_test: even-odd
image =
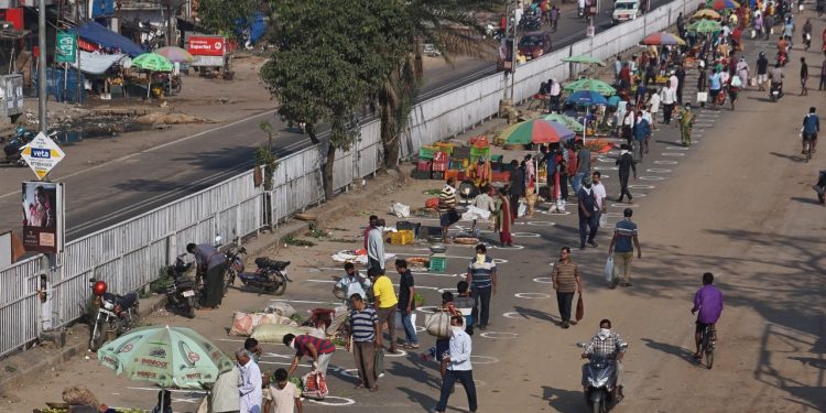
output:
[[[448,356],[444,358],[447,367],[445,378],[442,380],[438,403],[435,412],[444,413],[447,409],[447,400],[450,398],[454,385],[458,380],[467,393],[467,403],[470,412],[478,409],[476,401],[476,384],[474,383],[474,370],[470,365],[472,344],[470,336],[461,328],[461,316],[450,317],[450,343]]]

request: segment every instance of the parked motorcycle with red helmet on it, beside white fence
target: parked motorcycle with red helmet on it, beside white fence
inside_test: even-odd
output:
[[[96,295],[98,307],[95,324],[89,337],[89,351],[97,351],[106,341],[107,334],[120,337],[129,329],[137,327],[140,320],[138,314],[138,294],[117,295],[106,292],[107,285],[102,281],[89,280],[89,287]]]

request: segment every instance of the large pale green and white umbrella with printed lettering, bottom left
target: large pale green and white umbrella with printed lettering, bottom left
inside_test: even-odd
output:
[[[217,346],[187,327],[135,328],[98,350],[101,366],[130,380],[162,388],[202,389],[233,362]]]

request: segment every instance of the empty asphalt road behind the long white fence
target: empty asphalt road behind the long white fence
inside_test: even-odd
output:
[[[652,3],[660,4],[663,0]],[[610,26],[610,4],[602,2],[598,30]],[[572,7],[568,4],[567,8]],[[575,10],[565,9],[554,35],[555,47],[564,47],[585,35],[585,23]],[[455,68],[427,74],[427,85],[420,99],[442,94],[494,73],[494,64],[466,61]],[[287,129],[274,111],[253,115],[241,121],[202,130],[171,143],[117,159],[109,163],[67,171],[58,169],[53,178],[67,187],[67,238],[69,240],[106,228],[129,217],[167,204],[175,198],[215,185],[252,165],[252,148],[265,142],[258,124],[262,120],[279,130],[275,148],[280,155],[309,146],[306,137]],[[231,139],[227,139],[231,137]],[[88,150],[105,146],[85,142]],[[10,173],[0,170],[0,174]],[[23,176],[29,176],[23,174]],[[20,225],[19,192],[0,194],[0,228]]]

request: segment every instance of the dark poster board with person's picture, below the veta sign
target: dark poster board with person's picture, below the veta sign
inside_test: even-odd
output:
[[[63,184],[23,183],[23,247],[26,251],[57,253],[63,250]]]

